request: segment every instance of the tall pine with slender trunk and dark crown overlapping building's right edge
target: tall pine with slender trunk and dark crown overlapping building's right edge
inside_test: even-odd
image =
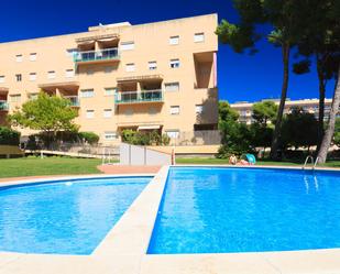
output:
[[[289,79],[290,48],[299,41],[305,30],[305,13],[310,9],[307,0],[233,0],[239,11],[240,23],[232,24],[222,20],[217,34],[222,43],[231,45],[237,53],[245,48],[255,52],[255,42],[263,35],[268,42],[282,48],[283,83],[275,131],[273,134],[271,157],[277,158],[278,138],[284,113]],[[271,25],[268,33],[257,32],[256,24]]]

